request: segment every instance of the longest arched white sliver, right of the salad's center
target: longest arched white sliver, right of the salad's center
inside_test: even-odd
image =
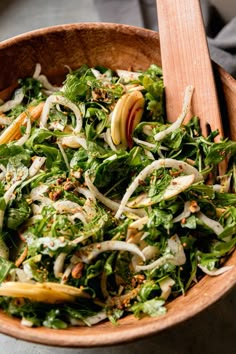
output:
[[[181,170],[185,175],[194,175],[194,181],[198,182],[203,179],[202,175],[199,173],[199,171],[189,165],[188,163],[184,161],[179,161],[175,159],[159,159],[153,161],[150,165],[146,166],[139,174],[138,176],[135,177],[133,182],[130,184],[130,186],[127,188],[126,193],[124,194],[119,209],[116,212],[115,217],[117,219],[120,218],[121,214],[123,213],[123,210],[125,208],[125,205],[127,204],[129,198],[131,195],[134,193],[135,189],[138,188],[140,182],[144,181],[153,171],[158,170],[159,168],[175,168],[177,170]]]

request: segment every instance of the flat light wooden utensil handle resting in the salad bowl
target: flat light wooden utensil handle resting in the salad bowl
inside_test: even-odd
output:
[[[223,135],[212,63],[199,0],[157,0],[168,121],[181,112],[188,85],[194,86],[192,114]]]

